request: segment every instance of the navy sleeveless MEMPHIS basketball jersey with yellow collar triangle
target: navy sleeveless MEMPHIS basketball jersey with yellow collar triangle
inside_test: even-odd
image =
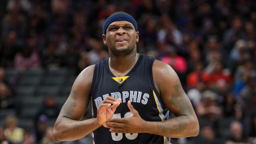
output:
[[[132,70],[123,77],[114,76],[108,65],[108,58],[95,65],[92,80],[92,114],[97,117],[97,108],[107,96],[122,98],[112,118],[130,115],[127,102],[130,100],[140,117],[145,121],[164,121],[169,111],[164,106],[154,86],[152,66],[154,58],[140,54]],[[101,126],[93,132],[95,144],[164,144],[171,139],[148,133],[112,133]]]

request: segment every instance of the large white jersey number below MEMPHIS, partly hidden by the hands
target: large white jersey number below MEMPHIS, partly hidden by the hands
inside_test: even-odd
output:
[[[129,117],[130,112],[127,112],[124,114],[124,117]],[[121,113],[115,113],[112,118],[121,118]],[[126,133],[126,138],[129,140],[133,140],[138,137],[138,133]],[[111,132],[111,137],[114,141],[119,141],[123,138],[123,133],[112,133]]]

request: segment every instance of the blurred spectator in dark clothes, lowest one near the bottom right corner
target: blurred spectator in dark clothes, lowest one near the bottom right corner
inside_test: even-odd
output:
[[[226,140],[225,144],[248,144],[244,135],[243,127],[240,122],[234,121],[230,124],[230,137]]]

